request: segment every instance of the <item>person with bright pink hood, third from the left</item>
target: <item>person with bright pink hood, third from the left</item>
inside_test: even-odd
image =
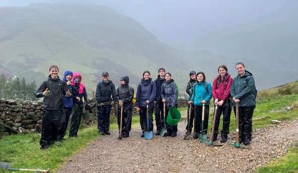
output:
[[[72,89],[74,94],[74,107],[72,111],[72,120],[71,120],[71,129],[70,129],[70,137],[78,137],[77,131],[80,125],[81,118],[83,116],[83,107],[87,104],[87,91],[85,86],[81,83],[82,76],[79,73],[74,73],[72,79]]]

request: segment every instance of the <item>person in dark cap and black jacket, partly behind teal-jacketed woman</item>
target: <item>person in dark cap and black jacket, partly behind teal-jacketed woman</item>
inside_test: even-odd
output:
[[[191,71],[189,72],[189,82],[187,83],[186,86],[186,92],[188,93],[189,99],[188,101],[190,101],[192,93],[193,93],[193,86],[196,83],[196,72],[195,71]],[[194,117],[195,117],[195,111],[194,111],[194,106],[191,107],[191,115],[190,115],[190,121],[189,121],[189,104],[187,105],[188,109],[187,109],[187,126],[186,126],[186,133],[188,132],[188,126],[189,126],[189,132],[191,133],[192,128],[193,128],[193,122],[194,122]],[[190,122],[190,124],[188,124],[188,122]],[[185,133],[185,134],[186,134]]]

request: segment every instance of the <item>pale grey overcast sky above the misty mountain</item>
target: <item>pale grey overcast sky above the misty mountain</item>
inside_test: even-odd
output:
[[[82,0],[0,0],[0,6],[27,6],[33,2],[82,3]],[[224,42],[233,36],[276,26],[284,26],[298,37],[298,0],[84,0],[83,3],[111,7],[140,22],[161,42],[184,50],[223,53]],[[235,40],[230,42],[237,45]]]

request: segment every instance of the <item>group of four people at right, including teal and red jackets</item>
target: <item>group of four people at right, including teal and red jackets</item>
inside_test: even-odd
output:
[[[214,79],[213,85],[206,82],[204,72],[196,74],[191,71],[190,81],[187,83],[186,92],[189,94],[189,104],[194,106],[188,107],[187,117],[190,122],[186,126],[187,132],[191,132],[194,124],[194,138],[198,138],[198,134],[207,134],[208,119],[209,119],[209,105],[212,97],[214,98],[214,105],[217,106],[217,114],[214,129],[213,140],[217,140],[219,134],[220,118],[223,114],[223,129],[221,131],[221,142],[227,141],[229,133],[229,123],[232,105],[236,115],[236,104],[238,103],[238,125],[239,142],[244,145],[250,144],[252,132],[252,116],[256,106],[255,102],[255,81],[252,74],[245,70],[242,62],[235,65],[238,75],[232,78],[227,73],[227,67],[221,65],[218,68],[219,75]],[[249,79],[249,80],[248,80]],[[203,111],[203,107],[205,111]],[[203,115],[204,112],[204,115]],[[189,116],[189,114],[191,114]],[[204,116],[204,125],[201,125],[202,116]],[[203,131],[201,127],[203,126]]]

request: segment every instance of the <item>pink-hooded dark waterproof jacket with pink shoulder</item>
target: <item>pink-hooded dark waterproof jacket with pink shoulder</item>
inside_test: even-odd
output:
[[[75,77],[77,77],[77,76],[80,76],[80,79],[78,81],[78,84],[75,84],[74,80],[75,80]],[[74,103],[78,104],[80,107],[83,107],[83,97],[84,97],[85,104],[87,104],[87,91],[86,91],[85,86],[81,83],[82,76],[79,73],[74,73],[72,81],[73,81],[72,88],[73,88],[73,94],[74,94],[74,96],[73,96]],[[80,100],[77,101],[75,99],[76,97],[79,97]]]

